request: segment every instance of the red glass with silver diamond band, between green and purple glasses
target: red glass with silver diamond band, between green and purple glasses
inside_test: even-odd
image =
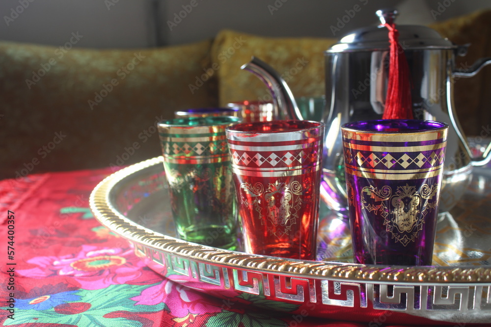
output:
[[[315,260],[324,124],[243,123],[226,135],[244,250]]]

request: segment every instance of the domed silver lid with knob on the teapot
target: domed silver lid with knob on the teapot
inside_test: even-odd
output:
[[[393,9],[377,10],[382,25],[355,29],[326,52],[388,50],[388,31],[383,24],[393,23],[399,13]],[[399,43],[404,50],[453,49],[457,46],[442,38],[436,30],[422,25],[396,25]]]

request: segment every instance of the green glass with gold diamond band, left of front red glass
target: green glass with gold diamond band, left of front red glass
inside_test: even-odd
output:
[[[190,117],[159,123],[177,235],[236,250],[237,210],[225,127],[238,117]]]

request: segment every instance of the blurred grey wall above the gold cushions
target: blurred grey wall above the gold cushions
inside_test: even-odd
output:
[[[338,20],[359,11],[340,32]],[[395,7],[399,24],[430,24],[491,7],[489,0],[1,0],[0,39],[75,47],[147,48],[211,38],[231,28],[265,36],[340,37],[377,24]],[[359,13],[362,13],[361,15]]]

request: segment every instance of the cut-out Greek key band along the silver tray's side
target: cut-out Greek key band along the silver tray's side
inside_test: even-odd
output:
[[[269,299],[298,303],[394,310],[406,313],[424,311],[485,311],[491,313],[491,285],[386,285],[285,277],[244,269],[225,268],[169,253],[158,252],[135,244],[135,252],[167,269],[167,276],[188,277],[190,280],[232,289]],[[179,279],[179,278],[177,278]]]

